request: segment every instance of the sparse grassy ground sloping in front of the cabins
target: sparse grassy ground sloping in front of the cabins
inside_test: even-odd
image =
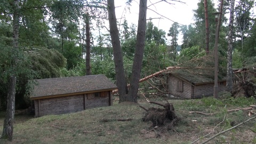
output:
[[[154,101],[159,102],[161,99]],[[39,118],[18,111],[19,114],[15,115],[13,141],[0,140],[0,143],[191,143],[201,138],[197,141],[199,143],[249,117],[248,111],[227,113],[228,109],[244,108],[256,103],[255,99],[227,97],[220,100],[203,98],[168,101],[173,103],[181,120],[174,126],[174,130],[162,130],[159,137],[156,137],[151,122],[142,122],[145,110],[139,107],[157,106],[140,100],[139,103],[115,102],[111,107]],[[219,113],[205,116],[190,114],[189,111]],[[0,113],[0,130],[3,129],[3,120],[4,114]],[[229,131],[209,143],[255,143],[255,122],[256,120],[246,123],[243,127]],[[209,133],[212,134],[203,137]]]

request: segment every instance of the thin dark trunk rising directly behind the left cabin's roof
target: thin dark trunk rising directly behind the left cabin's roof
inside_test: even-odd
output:
[[[91,75],[91,41],[90,41],[90,20],[89,15],[86,15],[85,18],[85,35],[86,35],[86,57],[85,57],[85,65],[86,65],[86,75]]]

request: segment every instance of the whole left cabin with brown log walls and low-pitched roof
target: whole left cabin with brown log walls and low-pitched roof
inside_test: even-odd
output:
[[[35,79],[35,83],[30,92],[35,117],[111,106],[112,91],[117,89],[105,75]]]

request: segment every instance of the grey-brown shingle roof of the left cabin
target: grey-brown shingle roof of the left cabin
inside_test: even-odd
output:
[[[30,98],[70,93],[81,93],[99,90],[115,90],[113,84],[105,75],[90,75],[77,77],[35,79],[38,83],[31,92]]]

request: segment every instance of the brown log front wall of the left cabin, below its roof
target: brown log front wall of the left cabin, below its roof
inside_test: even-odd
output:
[[[85,94],[36,99],[34,100],[35,117],[75,113],[84,109],[112,105],[111,92],[107,91],[105,94],[105,97],[102,96],[93,99],[88,99]]]

